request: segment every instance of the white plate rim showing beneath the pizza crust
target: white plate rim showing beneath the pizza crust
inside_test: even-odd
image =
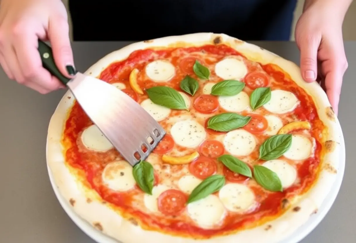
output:
[[[345,141],[344,141],[344,135],[342,134],[341,126],[339,121],[337,121],[339,130],[340,130],[340,164],[339,164],[339,169],[338,169],[338,177],[336,178],[336,181],[334,183],[334,187],[331,188],[329,195],[326,197],[325,201],[323,204],[320,206],[318,213],[313,215],[312,217],[309,218],[309,220],[301,226],[297,231],[295,231],[292,235],[288,236],[285,240],[279,242],[279,243],[297,243],[301,241],[304,237],[306,237],[310,232],[313,231],[313,229],[323,220],[325,215],[329,212],[331,206],[333,205],[337,193],[339,193],[340,187],[341,187],[341,182],[342,178],[344,177],[344,171],[345,171]],[[47,166],[48,169],[48,175],[49,175],[49,180],[51,181],[52,188],[54,190],[54,193],[57,196],[57,199],[61,206],[63,207],[64,211],[68,214],[68,216],[72,219],[72,221],[80,228],[84,233],[86,233],[90,238],[94,239],[94,241],[99,242],[99,243],[118,243],[115,239],[104,235],[103,233],[93,230],[93,226],[91,226],[88,222],[84,221],[82,218],[80,218],[75,212],[72,210],[70,205],[68,204],[67,201],[65,201],[62,197],[62,195],[59,193],[59,189],[56,184],[54,184],[54,179],[52,175],[51,169]]]

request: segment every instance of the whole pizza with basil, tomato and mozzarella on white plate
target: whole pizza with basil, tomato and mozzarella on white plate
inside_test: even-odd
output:
[[[132,167],[73,95],[63,97],[47,163],[93,230],[123,243],[278,242],[328,199],[338,121],[294,63],[225,34],[196,33],[128,45],[86,74],[125,92],[166,131]]]

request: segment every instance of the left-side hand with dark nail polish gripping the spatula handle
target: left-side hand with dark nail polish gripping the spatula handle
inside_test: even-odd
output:
[[[49,40],[58,69],[73,67],[68,16],[61,0],[1,0],[0,64],[6,75],[42,94],[64,87],[42,67],[38,39]]]

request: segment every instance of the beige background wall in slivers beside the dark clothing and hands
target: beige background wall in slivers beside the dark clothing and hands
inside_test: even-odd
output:
[[[299,16],[302,14],[304,1],[305,0],[299,0],[297,8],[294,11],[293,32],[290,36],[290,39],[292,41],[294,41],[295,24],[297,23]],[[64,2],[64,5],[66,5],[66,7],[68,9],[68,0],[63,0],[63,2]],[[344,25],[342,26],[345,41],[356,41],[356,27],[355,26],[356,26],[356,1],[353,1],[350,6],[349,11],[346,13]],[[70,27],[70,36],[72,36],[72,25],[71,25],[70,20],[69,20],[69,27]]]

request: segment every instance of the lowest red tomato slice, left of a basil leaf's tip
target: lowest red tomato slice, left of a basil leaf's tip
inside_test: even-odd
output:
[[[176,189],[169,189],[158,196],[158,210],[167,216],[179,215],[185,208],[187,195]]]

